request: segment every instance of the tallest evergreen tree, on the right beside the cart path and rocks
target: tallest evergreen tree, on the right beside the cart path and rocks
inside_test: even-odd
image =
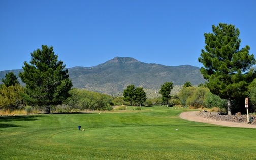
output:
[[[205,50],[202,49],[199,62],[200,69],[210,91],[227,99],[228,115],[231,115],[231,102],[244,99],[250,82],[255,78],[252,66],[255,64],[250,47],[246,45],[239,50],[241,39],[239,30],[234,25],[219,23],[212,25],[213,33],[205,33]]]

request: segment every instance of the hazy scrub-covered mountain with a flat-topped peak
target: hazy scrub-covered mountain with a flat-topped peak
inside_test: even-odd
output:
[[[205,83],[199,67],[190,65],[165,66],[143,63],[131,57],[115,57],[94,67],[68,68],[73,87],[120,95],[129,84],[145,89],[159,90],[165,82],[183,85]],[[15,75],[22,70],[12,70]],[[0,79],[9,71],[0,71]]]

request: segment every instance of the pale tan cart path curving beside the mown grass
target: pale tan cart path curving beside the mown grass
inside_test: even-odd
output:
[[[247,124],[247,123],[218,121],[218,120],[200,117],[200,116],[197,116],[198,113],[199,113],[199,111],[183,112],[180,114],[180,118],[188,120],[188,121],[203,122],[203,123],[215,124],[215,125],[220,125],[220,126],[256,128],[256,125],[251,125],[251,124]]]

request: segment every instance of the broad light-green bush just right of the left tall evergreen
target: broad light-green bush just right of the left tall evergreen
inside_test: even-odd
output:
[[[65,104],[71,108],[80,110],[112,110],[113,98],[111,96],[76,88],[70,90],[69,93],[71,97],[65,101]]]

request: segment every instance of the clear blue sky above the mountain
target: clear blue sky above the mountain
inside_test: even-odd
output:
[[[254,0],[0,0],[0,70],[21,69],[42,44],[68,68],[116,56],[201,67],[203,34],[220,22],[235,25],[240,47],[256,54]]]

